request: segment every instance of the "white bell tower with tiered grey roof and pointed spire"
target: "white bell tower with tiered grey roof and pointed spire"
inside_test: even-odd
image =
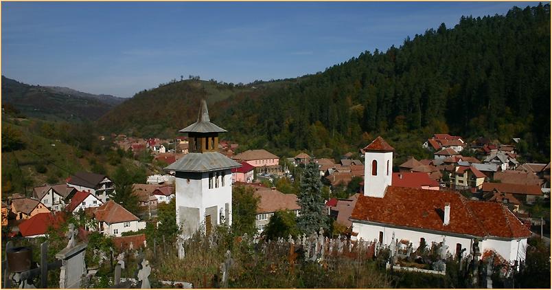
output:
[[[227,131],[211,123],[205,100],[197,122],[179,132],[188,135],[189,153],[164,168],[176,177],[176,223],[183,238],[197,230],[210,234],[217,225],[232,224],[231,169],[242,165],[218,153],[218,133]]]

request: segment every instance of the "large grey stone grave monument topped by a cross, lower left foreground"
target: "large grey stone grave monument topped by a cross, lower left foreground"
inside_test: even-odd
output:
[[[65,249],[56,254],[56,258],[62,261],[60,288],[80,288],[82,278],[87,274],[87,267],[84,265],[87,244],[76,243],[77,233],[74,225],[69,224],[69,231],[66,234],[69,237],[69,243]]]

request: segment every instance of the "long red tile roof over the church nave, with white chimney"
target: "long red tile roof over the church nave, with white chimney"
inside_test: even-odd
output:
[[[445,203],[450,203],[450,223],[443,225]],[[520,230],[515,216],[502,208],[501,216],[483,219],[481,210],[496,214],[498,203],[468,201],[458,192],[422,190],[388,186],[384,197],[360,196],[351,219],[435,230],[471,236],[527,237]],[[502,219],[502,220],[501,220]]]

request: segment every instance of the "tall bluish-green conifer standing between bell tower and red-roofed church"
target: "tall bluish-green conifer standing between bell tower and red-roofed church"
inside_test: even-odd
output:
[[[322,197],[322,182],[318,164],[310,162],[303,175],[299,190],[300,215],[297,218],[297,227],[305,234],[318,232],[321,227],[327,232],[327,215],[324,213],[324,199]]]

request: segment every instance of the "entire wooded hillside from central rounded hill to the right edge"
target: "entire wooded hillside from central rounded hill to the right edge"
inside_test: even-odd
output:
[[[392,143],[417,140],[415,151],[424,138],[447,131],[501,142],[521,137],[542,159],[550,144],[550,6],[463,16],[454,28],[443,24],[400,47],[363,52],[286,85],[224,93],[196,86],[176,82],[143,91],[101,124],[170,133],[193,122],[198,99],[207,96],[215,122],[242,149],[336,155],[384,135]]]

